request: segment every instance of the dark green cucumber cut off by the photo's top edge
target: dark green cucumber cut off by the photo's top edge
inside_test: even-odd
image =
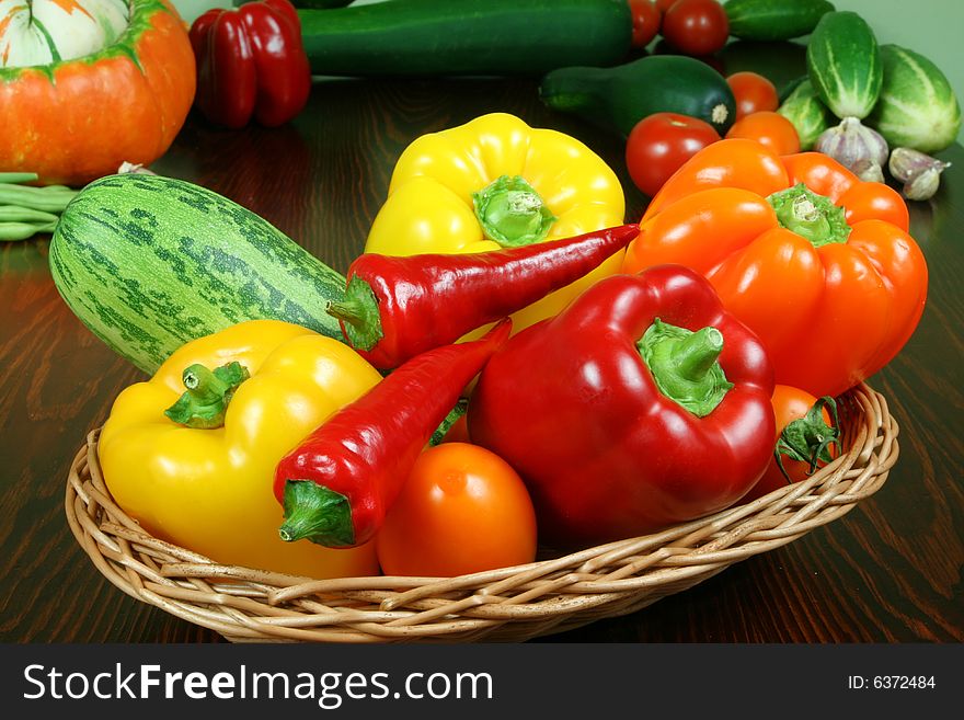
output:
[[[723,10],[734,37],[781,41],[808,35],[836,8],[827,0],[730,0]]]

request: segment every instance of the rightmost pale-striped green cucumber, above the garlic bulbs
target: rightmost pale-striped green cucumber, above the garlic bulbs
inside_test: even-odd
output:
[[[882,45],[881,61],[884,82],[868,125],[892,148],[938,152],[954,142],[961,129],[961,104],[940,68],[897,45]]]

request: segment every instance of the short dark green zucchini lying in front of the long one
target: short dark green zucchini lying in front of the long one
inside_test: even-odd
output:
[[[539,96],[553,110],[623,136],[653,113],[698,117],[721,136],[736,116],[726,79],[705,62],[684,55],[652,55],[611,68],[560,68],[542,78]]]

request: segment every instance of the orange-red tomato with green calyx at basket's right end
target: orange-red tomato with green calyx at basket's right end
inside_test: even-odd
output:
[[[779,449],[778,443],[780,442],[780,436],[784,434],[787,427],[791,423],[806,419],[816,407],[817,402],[819,402],[817,398],[800,388],[794,388],[789,385],[778,385],[773,388],[771,403],[773,405],[773,415],[777,420],[777,435],[773,438],[773,444],[777,449]],[[808,430],[805,433],[794,434],[794,437],[797,439],[795,445],[802,445],[800,449],[807,456],[817,450],[820,443],[827,442],[828,437],[836,438],[839,434],[839,431],[831,423],[833,419],[830,418],[826,404],[822,404],[820,419],[823,420],[823,426],[820,426],[819,421],[814,416],[815,413],[813,413],[808,419],[811,423]],[[805,442],[802,442],[802,438]],[[788,441],[789,439],[790,438],[788,438]],[[817,468],[825,466],[828,459],[837,457],[837,453],[838,448],[836,445],[827,445],[826,453],[823,454],[823,458],[817,462]],[[753,490],[746,494],[742,501],[743,503],[748,503],[749,501],[762,498],[774,490],[785,488],[789,482],[800,482],[810,477],[810,462],[793,459],[785,453],[781,455],[781,461],[783,464],[783,469],[787,470],[787,475],[783,475],[783,471],[780,470],[780,466],[777,464],[777,458],[774,456],[770,460],[770,465],[767,467],[764,477],[760,478],[759,482],[754,485]]]

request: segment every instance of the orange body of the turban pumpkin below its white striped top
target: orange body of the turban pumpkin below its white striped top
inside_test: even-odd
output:
[[[194,53],[169,0],[130,0],[129,12],[101,50],[0,68],[0,171],[83,185],[167,152],[194,102]]]

